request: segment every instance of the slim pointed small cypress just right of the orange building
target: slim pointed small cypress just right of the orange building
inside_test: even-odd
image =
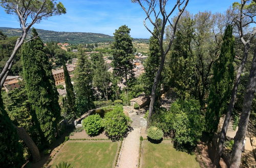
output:
[[[71,83],[71,79],[69,76],[69,71],[67,69],[66,64],[63,64],[63,70],[64,70],[64,76],[65,76],[65,84],[66,84],[66,91],[67,91],[67,101],[66,103],[68,106],[68,118],[71,119],[73,117],[77,117],[76,114],[76,109],[75,109],[75,93],[73,89],[73,85]]]

